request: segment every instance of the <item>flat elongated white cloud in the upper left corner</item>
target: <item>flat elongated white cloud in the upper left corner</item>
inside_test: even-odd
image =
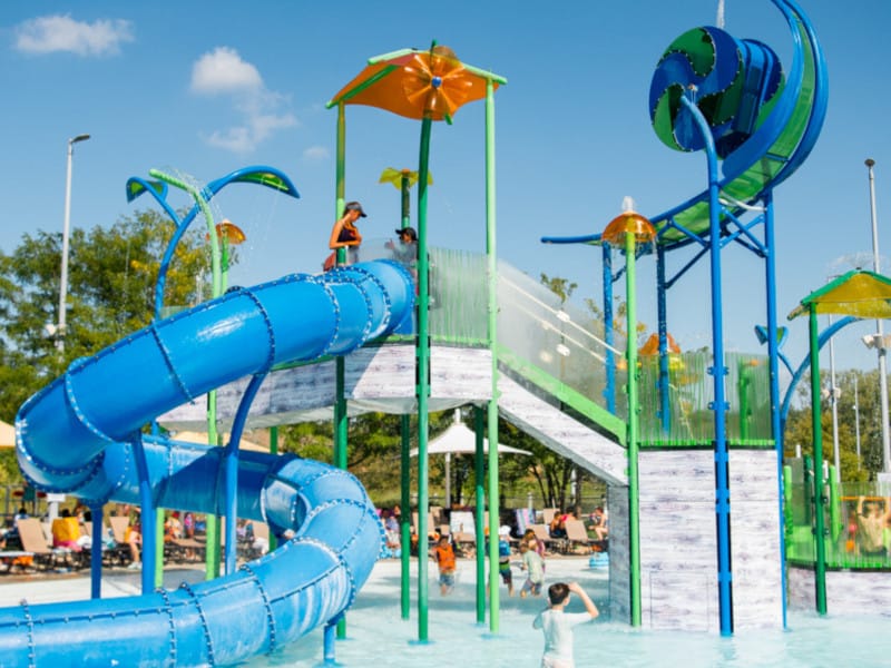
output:
[[[16,27],[16,49],[26,53],[67,51],[78,56],[105,56],[118,53],[121,43],[134,39],[133,23],[124,19],[86,23],[68,14],[55,14]]]

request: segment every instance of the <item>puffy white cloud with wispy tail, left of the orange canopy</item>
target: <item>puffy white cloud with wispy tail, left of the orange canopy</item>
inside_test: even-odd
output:
[[[242,59],[235,49],[217,47],[202,56],[192,68],[190,90],[197,95],[232,97],[233,107],[244,117],[239,126],[215,130],[205,140],[233,153],[249,153],[275,131],[297,125],[282,94],[267,90],[256,67]]]

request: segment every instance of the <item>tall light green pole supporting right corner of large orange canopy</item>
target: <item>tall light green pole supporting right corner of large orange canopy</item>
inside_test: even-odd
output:
[[[489,278],[488,336],[491,353],[492,394],[487,404],[489,435],[489,630],[500,628],[498,589],[498,257],[496,254],[496,188],[495,188],[495,84],[486,81],[486,259]]]

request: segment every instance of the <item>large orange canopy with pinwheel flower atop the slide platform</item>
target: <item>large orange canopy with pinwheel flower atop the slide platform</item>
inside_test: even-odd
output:
[[[487,80],[500,78],[463,65],[444,46],[407,49],[372,58],[327,104],[366,105],[421,120],[450,120],[466,102],[486,97]]]

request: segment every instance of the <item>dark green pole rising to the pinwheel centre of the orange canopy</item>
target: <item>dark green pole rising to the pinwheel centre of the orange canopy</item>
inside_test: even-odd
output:
[[[427,257],[427,173],[430,160],[430,131],[432,119],[421,121],[421,149],[418,169],[418,338],[415,342],[415,369],[418,384],[418,640],[428,639],[428,564],[427,513],[430,505],[428,436],[430,415],[430,275]]]

